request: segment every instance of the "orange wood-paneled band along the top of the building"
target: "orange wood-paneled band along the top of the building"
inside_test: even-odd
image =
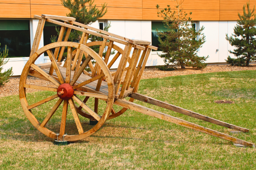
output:
[[[161,20],[156,5],[163,9],[175,4],[171,0],[95,0],[101,8],[107,3],[108,12],[101,19]],[[194,21],[235,21],[247,0],[185,0],[182,8],[192,12]],[[256,0],[250,0],[251,8]],[[60,0],[0,0],[0,18],[33,18],[34,15],[50,14],[65,16],[69,13]]]

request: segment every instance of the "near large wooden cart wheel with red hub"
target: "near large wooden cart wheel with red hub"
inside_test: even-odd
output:
[[[67,55],[67,61],[68,63],[66,64],[66,68],[61,68],[58,66],[53,53],[51,49],[54,49],[56,47],[68,47],[68,55]],[[84,51],[87,53],[89,57],[87,57],[86,61],[84,64],[80,67],[80,69],[77,70],[77,72],[72,72],[74,75],[72,76],[71,73],[71,51],[73,48],[79,49],[81,51]],[[39,68],[34,62],[37,60],[37,58],[44,52],[47,52],[51,61],[52,65],[55,69],[55,73],[57,76],[54,77],[54,75],[49,75],[46,71],[43,69]],[[93,58],[101,67],[103,75],[106,77],[107,81],[107,95],[102,95],[102,94],[95,94],[93,93],[94,91],[91,90],[90,92],[80,92],[74,87],[79,86],[78,83],[76,83],[77,79],[80,77],[82,74],[84,68],[87,66],[88,62]],[[34,69],[34,72],[36,72],[38,75],[42,77],[44,80],[48,80],[52,82],[56,87],[46,87],[46,86],[37,86],[37,85],[31,85],[31,84],[26,84],[27,76],[29,72],[31,71],[31,68]],[[66,71],[66,75],[63,75],[62,71],[63,69]],[[40,77],[39,76],[39,77]],[[71,79],[73,78],[73,79]],[[58,81],[59,80],[59,81]],[[95,78],[89,79],[87,82],[92,82],[95,80]],[[76,84],[75,84],[76,83]],[[84,82],[85,84],[85,82]],[[73,86],[75,85],[75,86]],[[32,88],[32,89],[40,89],[40,90],[45,90],[45,91],[54,91],[56,92],[55,95],[50,96],[42,101],[39,101],[37,103],[29,105],[27,102],[27,97],[26,97],[26,88]],[[75,140],[80,140],[82,138],[85,138],[87,136],[90,136],[94,134],[106,121],[108,115],[111,112],[111,109],[113,107],[114,103],[114,85],[113,85],[113,80],[110,74],[109,69],[107,68],[107,65],[105,62],[102,60],[100,56],[97,55],[96,52],[94,52],[92,49],[89,47],[75,43],[75,42],[54,42],[52,44],[46,45],[36,51],[28,60],[26,63],[22,74],[21,74],[21,79],[20,79],[20,101],[22,108],[27,116],[27,118],[30,120],[30,122],[35,126],[40,132],[42,132],[44,135],[54,138],[57,138],[57,133],[58,132],[53,132],[52,130],[49,130],[45,127],[45,125],[48,123],[52,115],[55,113],[57,108],[60,106],[60,104],[64,101],[63,103],[63,112],[62,112],[62,120],[60,123],[60,131],[59,131],[59,139],[63,140],[62,135],[64,135],[65,132],[65,125],[66,125],[66,115],[67,115],[67,110],[68,110],[68,105],[70,106],[70,109],[72,111],[76,127],[78,129],[78,132],[76,134],[68,134],[65,136],[65,141],[75,141]],[[97,97],[97,98],[104,98],[106,100],[106,109],[102,116],[99,116],[96,114],[90,107],[88,107],[84,102],[82,102],[78,96],[76,95],[85,95],[90,96],[90,97]],[[32,109],[36,108],[37,106],[46,103],[53,100],[54,98],[59,98],[57,103],[53,106],[51,111],[46,115],[44,120],[40,123],[35,115],[32,113]],[[78,117],[78,106],[75,105],[75,102],[77,102],[82,108],[86,110],[87,113],[90,114],[91,117],[95,118],[98,120],[98,123],[90,130],[85,131],[82,128],[82,124],[80,122],[80,119]],[[36,110],[34,110],[36,111]],[[33,112],[34,112],[33,111]],[[90,116],[87,116],[88,118]]]

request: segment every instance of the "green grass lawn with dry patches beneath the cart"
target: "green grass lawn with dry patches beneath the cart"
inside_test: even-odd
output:
[[[256,143],[256,71],[141,80],[138,92],[250,132],[231,134],[230,129],[222,126],[140,101],[135,103]],[[50,95],[52,92],[36,92],[27,97],[32,104]],[[231,100],[235,104],[216,104],[215,100]],[[33,110],[39,121],[56,101]],[[47,124],[56,132],[61,113],[60,107]],[[84,129],[91,128],[89,120],[80,119]],[[69,110],[68,134],[76,130],[74,124]],[[15,95],[0,98],[0,169],[255,170],[256,148],[235,147],[232,142],[130,110],[107,120],[99,131],[84,140],[54,146],[51,138],[28,121]]]

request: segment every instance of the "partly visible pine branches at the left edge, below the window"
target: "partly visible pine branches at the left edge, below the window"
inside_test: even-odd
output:
[[[1,46],[1,43],[0,43]],[[5,58],[8,56],[8,50],[5,49],[3,52],[0,52],[0,86],[3,86],[4,83],[7,83],[9,81],[9,77],[12,76],[12,67],[7,69],[6,71],[2,72],[2,67],[4,64],[6,64],[9,60],[5,60]]]

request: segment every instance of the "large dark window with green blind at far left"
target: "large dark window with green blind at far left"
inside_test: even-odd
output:
[[[30,21],[29,20],[0,20],[0,50],[6,45],[9,57],[29,57]]]

